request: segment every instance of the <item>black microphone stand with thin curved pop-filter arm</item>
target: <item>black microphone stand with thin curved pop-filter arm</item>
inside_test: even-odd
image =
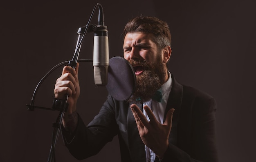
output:
[[[80,49],[81,49],[81,44],[82,44],[83,38],[86,35],[86,33],[91,32],[91,31],[97,31],[97,28],[101,25],[101,24],[99,24],[99,26],[97,26],[96,24],[90,24],[90,21],[92,19],[92,16],[94,14],[94,11],[95,11],[96,7],[99,7],[99,13],[100,13],[100,11],[103,13],[103,9],[102,9],[101,4],[97,3],[94,6],[94,9],[93,9],[92,14],[90,16],[88,24],[85,27],[80,27],[78,29],[78,32],[77,32],[78,33],[78,39],[77,39],[77,43],[76,43],[76,49],[75,49],[75,52],[74,52],[74,56],[73,56],[71,61],[68,61],[68,66],[70,66],[70,67],[72,67],[74,69],[76,68],[77,62],[92,62],[92,60],[85,60],[85,59],[78,60],[78,57],[79,57],[79,52],[80,52]],[[101,16],[103,17],[103,15],[101,15]],[[56,142],[58,140],[58,135],[60,133],[60,128],[61,128],[62,120],[63,120],[63,117],[64,117],[64,113],[65,113],[65,111],[67,110],[67,107],[68,107],[68,102],[67,102],[68,95],[65,95],[65,99],[54,98],[52,109],[51,108],[34,106],[34,102],[35,102],[34,98],[36,96],[37,89],[40,87],[42,82],[47,78],[47,76],[50,73],[52,73],[52,71],[54,71],[57,67],[60,67],[61,65],[66,64],[66,63],[67,63],[67,61],[66,62],[61,62],[60,64],[57,64],[55,67],[53,67],[40,80],[40,82],[36,86],[36,89],[35,89],[34,94],[32,96],[31,104],[27,105],[27,108],[28,108],[29,111],[34,111],[34,108],[53,110],[53,111],[54,110],[60,111],[60,113],[59,113],[59,115],[58,115],[58,117],[56,119],[56,122],[53,123],[54,130],[53,130],[53,133],[52,133],[52,145],[51,145],[51,148],[50,148],[50,153],[49,153],[49,157],[48,157],[47,162],[55,162],[54,148],[55,148]]]

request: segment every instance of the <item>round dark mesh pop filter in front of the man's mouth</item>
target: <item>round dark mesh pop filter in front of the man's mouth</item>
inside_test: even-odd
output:
[[[136,88],[135,71],[125,58],[112,57],[109,60],[108,93],[118,101],[128,100]]]

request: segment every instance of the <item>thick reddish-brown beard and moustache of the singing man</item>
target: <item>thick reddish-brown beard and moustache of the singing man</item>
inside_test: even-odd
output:
[[[142,67],[143,72],[140,75],[136,75],[135,93],[128,102],[146,102],[150,100],[155,92],[164,84],[167,75],[166,64],[164,64],[160,58],[153,63],[138,59],[130,59],[129,62],[131,65],[139,65],[139,67]]]

